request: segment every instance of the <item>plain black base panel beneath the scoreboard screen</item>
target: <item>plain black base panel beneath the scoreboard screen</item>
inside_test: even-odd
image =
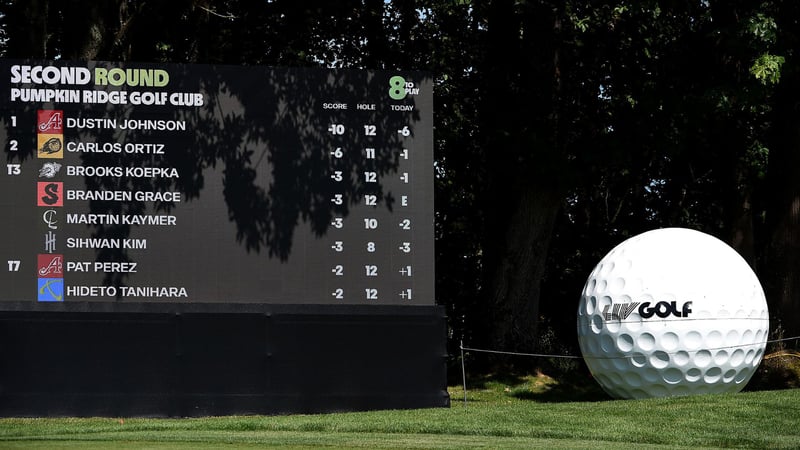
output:
[[[441,307],[54,306],[0,311],[1,416],[197,417],[450,404]]]

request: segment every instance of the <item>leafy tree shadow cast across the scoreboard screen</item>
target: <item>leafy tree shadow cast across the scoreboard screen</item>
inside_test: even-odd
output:
[[[97,64],[107,64],[98,62]],[[64,115],[101,120],[164,120],[186,124],[183,132],[117,130],[91,127],[68,130],[76,135],[67,140],[78,142],[164,144],[163,155],[150,153],[81,152],[80,167],[148,167],[175,169],[179,176],[129,177],[86,176],[87,191],[180,192],[182,202],[191,201],[196,211],[227,217],[235,224],[231,246],[247,252],[264,253],[286,261],[293,236],[301,223],[307,223],[317,236],[325,234],[332,219],[347,215],[363,202],[365,194],[377,195],[388,210],[394,205],[391,192],[378,184],[367,186],[359,174],[374,171],[378,178],[396,173],[397,152],[402,137],[396,132],[409,120],[419,121],[417,111],[403,114],[366,113],[342,117],[341,111],[326,111],[320,105],[332,98],[357,102],[363,99],[386,100],[385,79],[364,71],[321,69],[276,69],[235,66],[174,66],[170,69],[170,89],[175,92],[204,92],[202,105],[194,108],[125,109],[119,105],[65,104]],[[415,106],[411,97],[406,106]],[[38,106],[27,105],[20,116],[35,117]],[[70,109],[71,108],[71,109]],[[364,136],[368,124],[382,130],[383,136],[372,159],[363,149],[375,141]],[[333,125],[341,125],[331,132]],[[345,126],[346,125],[346,126]],[[420,123],[431,129],[432,123]],[[370,143],[371,142],[371,143]],[[341,156],[334,156],[337,147]],[[36,157],[36,149],[24,146],[10,156],[9,162],[24,162]],[[331,203],[332,177],[341,172],[336,192],[348,204]],[[164,172],[171,173],[171,172]],[[204,189],[221,183],[224,202],[207,198]],[[143,202],[93,201],[91,214],[140,215],[173,214],[179,205],[174,201],[157,202],[156,211],[146,211]],[[95,238],[127,239],[130,224],[94,223],[89,225]],[[124,248],[98,250],[98,261],[129,262]],[[122,286],[126,273],[106,274],[105,285]]]

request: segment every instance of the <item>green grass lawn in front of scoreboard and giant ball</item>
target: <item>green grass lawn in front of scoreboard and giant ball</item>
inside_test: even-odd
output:
[[[546,376],[450,388],[452,406],[192,419],[0,419],[0,449],[800,448],[800,389],[608,400]],[[567,401],[564,401],[567,400]]]

